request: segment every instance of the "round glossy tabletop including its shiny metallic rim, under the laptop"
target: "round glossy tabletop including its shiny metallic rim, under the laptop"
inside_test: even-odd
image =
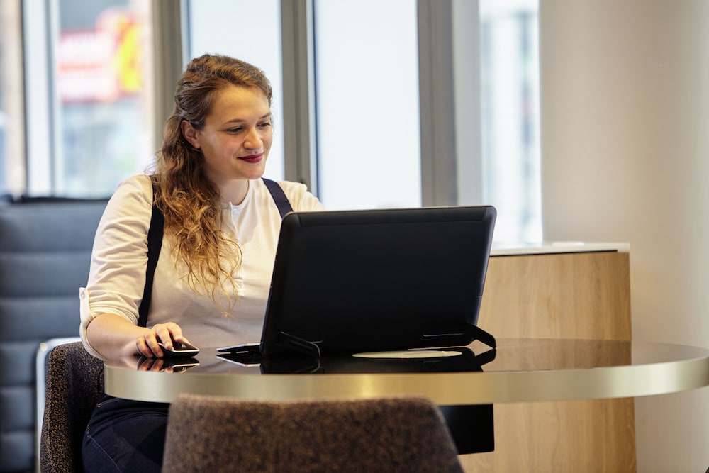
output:
[[[272,401],[421,395],[454,405],[649,396],[709,385],[709,350],[616,340],[502,339],[483,371],[337,372],[323,360],[325,372],[262,374],[261,367],[220,360],[214,349],[197,359],[199,366],[184,372],[141,371],[137,358],[107,362],[106,393],[156,402],[180,393]]]

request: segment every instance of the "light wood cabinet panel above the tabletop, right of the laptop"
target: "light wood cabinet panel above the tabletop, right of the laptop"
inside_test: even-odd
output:
[[[630,256],[493,256],[478,325],[497,338],[630,340]]]

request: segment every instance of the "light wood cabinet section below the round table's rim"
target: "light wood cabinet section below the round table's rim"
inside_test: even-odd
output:
[[[635,472],[632,399],[496,404],[495,451],[466,472]]]

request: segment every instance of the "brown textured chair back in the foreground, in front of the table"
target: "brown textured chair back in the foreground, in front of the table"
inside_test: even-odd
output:
[[[428,399],[278,403],[183,394],[170,406],[162,471],[463,470]]]

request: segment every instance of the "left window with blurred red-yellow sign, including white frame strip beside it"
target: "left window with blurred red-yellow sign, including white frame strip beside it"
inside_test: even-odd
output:
[[[150,1],[23,6],[28,193],[110,195],[155,154]]]

